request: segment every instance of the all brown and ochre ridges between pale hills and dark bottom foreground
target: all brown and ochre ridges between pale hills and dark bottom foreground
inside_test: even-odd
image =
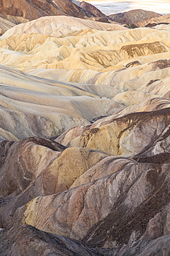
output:
[[[1,228],[29,224],[90,247],[120,246],[113,255],[135,255],[139,246],[156,253],[162,243],[168,253],[169,113],[103,118],[81,135],[83,145],[76,137],[70,148],[40,138],[11,144],[1,167]],[[116,140],[111,154],[118,156],[103,153]],[[127,149],[129,157],[120,156]]]

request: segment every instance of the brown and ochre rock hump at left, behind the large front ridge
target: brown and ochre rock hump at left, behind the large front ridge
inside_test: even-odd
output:
[[[12,226],[12,216],[17,208],[36,196],[69,189],[89,167],[109,156],[89,149],[67,149],[43,138],[27,138],[15,143],[2,141],[0,145],[1,226],[6,222],[3,217],[6,210],[10,211],[6,225]]]

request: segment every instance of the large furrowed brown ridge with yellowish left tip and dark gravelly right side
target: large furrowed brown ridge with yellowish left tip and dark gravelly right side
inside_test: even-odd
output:
[[[94,170],[89,171],[84,185],[36,197],[18,208],[15,223],[28,223],[99,247],[168,235],[169,164],[120,157],[106,160],[105,165],[98,163],[97,178]]]

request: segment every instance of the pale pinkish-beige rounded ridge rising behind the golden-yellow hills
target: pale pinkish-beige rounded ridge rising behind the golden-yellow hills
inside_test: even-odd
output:
[[[127,28],[116,23],[107,24],[86,19],[78,19],[76,17],[50,16],[41,17],[26,24],[19,24],[16,28],[8,30],[6,35],[3,35],[1,39],[5,39],[10,37],[11,35],[21,33],[39,33],[55,36],[55,33],[57,34],[58,30],[62,31],[62,29],[64,30],[64,28],[67,33],[72,30],[85,30],[86,28],[91,28],[94,30],[127,30]],[[60,35],[63,34],[61,33]]]

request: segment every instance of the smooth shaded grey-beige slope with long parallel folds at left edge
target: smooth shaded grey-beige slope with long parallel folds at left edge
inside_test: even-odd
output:
[[[32,77],[4,66],[0,90],[1,138],[6,139],[57,136],[121,108],[121,104],[78,86]]]

